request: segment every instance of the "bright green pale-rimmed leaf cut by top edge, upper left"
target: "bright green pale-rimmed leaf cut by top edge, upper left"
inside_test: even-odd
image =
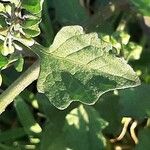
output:
[[[23,0],[21,6],[33,14],[38,14],[42,10],[43,1],[44,0]]]

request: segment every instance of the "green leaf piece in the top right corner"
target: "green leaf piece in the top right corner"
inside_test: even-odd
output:
[[[131,3],[144,15],[150,16],[150,1],[149,0],[130,0]]]

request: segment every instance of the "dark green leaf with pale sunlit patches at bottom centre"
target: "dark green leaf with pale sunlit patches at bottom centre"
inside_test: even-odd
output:
[[[99,150],[106,148],[102,130],[108,125],[92,107],[80,105],[66,116],[64,137],[73,150]]]

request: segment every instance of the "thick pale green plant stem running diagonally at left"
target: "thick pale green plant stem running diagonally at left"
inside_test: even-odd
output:
[[[12,85],[0,95],[0,114],[27,86],[35,81],[40,72],[39,61],[28,68]]]

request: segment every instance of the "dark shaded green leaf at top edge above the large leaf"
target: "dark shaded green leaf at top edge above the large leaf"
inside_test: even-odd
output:
[[[86,9],[78,0],[54,0],[56,19],[62,24],[81,24],[88,19]]]

